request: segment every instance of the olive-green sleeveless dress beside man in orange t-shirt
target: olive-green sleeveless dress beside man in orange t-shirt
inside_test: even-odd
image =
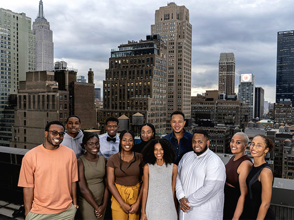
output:
[[[98,205],[102,204],[103,194],[104,194],[104,183],[103,177],[105,175],[105,160],[104,157],[99,155],[98,161],[89,161],[84,155],[79,158],[84,164],[84,175],[86,180],[87,188],[91,191],[93,198],[96,200]],[[94,214],[93,206],[80,195],[79,197],[79,212],[83,220],[93,220],[97,219]],[[100,220],[104,219],[104,215]]]

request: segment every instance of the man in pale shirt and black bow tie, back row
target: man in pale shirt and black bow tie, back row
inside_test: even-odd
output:
[[[120,137],[117,135],[119,130],[119,120],[116,117],[106,119],[106,134],[100,136],[99,155],[104,156],[107,160],[112,154],[119,152]]]

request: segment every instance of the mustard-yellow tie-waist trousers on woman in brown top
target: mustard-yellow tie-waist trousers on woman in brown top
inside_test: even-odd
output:
[[[137,201],[140,183],[135,186],[122,186],[115,183],[115,186],[125,203],[132,205]],[[113,196],[111,198],[111,211],[113,220],[139,220],[138,214],[125,213],[120,203]]]

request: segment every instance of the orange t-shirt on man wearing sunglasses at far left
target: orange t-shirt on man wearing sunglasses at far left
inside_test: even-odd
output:
[[[25,154],[18,186],[34,188],[31,212],[56,214],[71,207],[71,183],[77,180],[73,150],[64,145],[56,150],[39,145]]]

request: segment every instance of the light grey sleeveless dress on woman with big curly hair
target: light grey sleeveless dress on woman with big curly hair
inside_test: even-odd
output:
[[[147,220],[177,220],[172,195],[173,164],[148,164],[149,186],[146,202]]]

